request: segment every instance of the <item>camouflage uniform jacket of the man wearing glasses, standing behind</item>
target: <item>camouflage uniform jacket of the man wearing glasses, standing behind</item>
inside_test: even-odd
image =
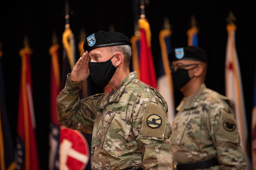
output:
[[[218,158],[220,166],[208,169],[246,168],[238,126],[227,97],[205,84],[176,108],[169,141],[177,164]]]

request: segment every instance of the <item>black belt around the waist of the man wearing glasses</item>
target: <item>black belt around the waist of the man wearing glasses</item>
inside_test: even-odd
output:
[[[187,164],[179,164],[179,165],[176,165],[176,169],[177,170],[194,170],[194,169],[209,168],[217,165],[219,165],[218,159],[213,158],[209,160],[196,161],[196,162],[187,163]]]

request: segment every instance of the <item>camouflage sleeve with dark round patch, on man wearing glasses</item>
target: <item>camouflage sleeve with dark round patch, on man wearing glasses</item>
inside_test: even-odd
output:
[[[240,136],[234,112],[225,102],[216,104],[216,109],[211,111],[215,115],[212,119],[212,139],[217,148],[221,169],[245,170],[246,159],[240,147]]]

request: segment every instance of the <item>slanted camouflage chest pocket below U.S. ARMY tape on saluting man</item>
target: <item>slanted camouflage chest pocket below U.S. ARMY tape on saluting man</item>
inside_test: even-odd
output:
[[[121,156],[126,146],[131,125],[128,125],[115,114],[111,117],[111,122],[106,126],[106,135],[102,147],[113,155]]]

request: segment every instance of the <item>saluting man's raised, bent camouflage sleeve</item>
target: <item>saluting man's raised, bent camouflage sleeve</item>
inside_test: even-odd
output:
[[[67,128],[92,133],[98,103],[104,94],[80,100],[79,90],[83,82],[72,82],[69,77],[70,73],[67,75],[65,88],[57,97],[58,121]]]

